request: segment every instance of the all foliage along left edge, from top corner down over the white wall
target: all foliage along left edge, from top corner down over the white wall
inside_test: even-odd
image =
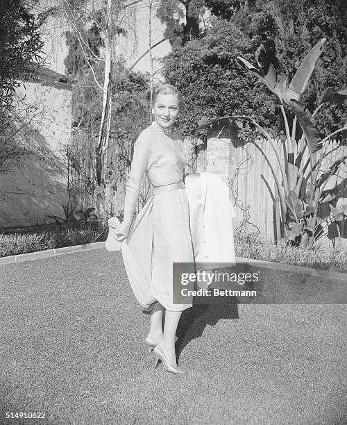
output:
[[[34,106],[16,100],[15,89],[43,62],[39,24],[22,0],[0,0],[0,172],[23,164],[34,147],[26,140]],[[35,63],[33,62],[35,60]],[[17,103],[16,107],[15,104]],[[28,118],[30,117],[30,118]]]

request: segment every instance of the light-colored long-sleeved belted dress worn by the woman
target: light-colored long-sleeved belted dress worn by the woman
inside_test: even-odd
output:
[[[178,133],[170,137],[153,124],[142,131],[126,184],[124,222],[132,222],[145,173],[153,188],[168,188],[147,201],[121,245],[130,285],[144,310],[151,310],[155,301],[171,311],[192,306],[189,299],[184,304],[174,303],[173,293],[173,263],[194,262],[184,166],[185,149]],[[173,183],[176,186],[171,190]]]

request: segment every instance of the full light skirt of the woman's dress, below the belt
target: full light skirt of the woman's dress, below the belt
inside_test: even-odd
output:
[[[140,211],[121,247],[124,265],[135,297],[144,310],[159,301],[171,311],[192,306],[174,302],[173,263],[192,263],[189,203],[185,190],[155,194]]]

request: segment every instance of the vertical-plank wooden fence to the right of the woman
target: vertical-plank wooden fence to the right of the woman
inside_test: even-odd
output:
[[[200,142],[201,143],[201,142]],[[246,231],[259,231],[260,237],[266,240],[277,240],[278,228],[276,229],[276,202],[279,207],[279,199],[276,194],[276,183],[269,164],[272,165],[279,181],[280,167],[276,154],[271,144],[266,139],[242,139],[237,135],[228,138],[210,138],[207,145],[200,144],[196,139],[185,140],[188,154],[189,171],[192,172],[217,172],[228,176],[230,181],[230,196],[237,213],[238,226]],[[283,144],[281,140],[275,141],[275,146],[283,158]],[[197,158],[196,147],[198,147]],[[321,163],[321,171],[326,172],[335,160],[347,154],[347,147],[336,140],[328,144],[326,153]],[[195,151],[195,153],[194,153]],[[267,158],[267,160],[266,160]],[[303,160],[308,160],[306,149]],[[330,202],[335,207],[347,203],[347,167],[342,164],[327,185],[324,193],[337,194],[338,197]],[[324,215],[330,213],[329,203],[323,206]],[[327,246],[334,243],[337,237],[336,225],[328,228],[329,238],[322,238],[321,244]],[[342,238],[346,247],[346,220],[340,225]]]

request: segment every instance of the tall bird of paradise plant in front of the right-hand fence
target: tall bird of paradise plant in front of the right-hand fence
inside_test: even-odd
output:
[[[269,141],[278,160],[280,167],[280,179],[276,176],[273,164],[267,160],[271,172],[276,181],[276,189],[280,199],[280,219],[282,222],[281,236],[291,244],[300,244],[302,247],[312,249],[314,241],[321,234],[319,225],[323,219],[318,216],[319,206],[323,202],[332,201],[337,195],[326,197],[323,190],[331,176],[335,175],[342,163],[347,159],[347,155],[340,156],[335,160],[329,169],[323,172],[321,163],[324,157],[331,155],[335,149],[328,151],[329,142],[332,137],[347,130],[347,124],[343,128],[334,131],[325,138],[321,138],[316,129],[316,115],[325,103],[339,103],[347,99],[347,90],[334,91],[332,87],[324,90],[319,105],[313,113],[303,104],[303,94],[310,82],[312,72],[316,62],[321,56],[326,39],[318,42],[303,59],[303,62],[296,70],[294,77],[288,84],[285,76],[278,77],[276,69],[272,64],[265,74],[262,66],[257,63],[253,66],[248,60],[238,56],[237,63],[240,67],[251,72],[266,85],[266,87],[276,96],[280,102],[280,109],[285,123],[285,140],[283,140],[283,156],[276,147],[275,140],[268,131],[255,119],[246,115],[233,115],[231,117],[219,117],[204,122],[201,126],[194,129],[198,133],[203,128],[212,126],[222,119],[230,122],[246,121],[257,128],[262,135]],[[289,129],[289,119],[285,113],[284,105],[287,104],[294,113],[291,131]],[[296,126],[299,124],[303,131],[300,140],[296,140]],[[256,141],[255,141],[256,143]],[[304,156],[305,151],[308,151]],[[263,152],[264,154],[264,152]],[[267,158],[266,158],[267,159]],[[343,220],[347,215],[347,205],[341,205],[332,209],[330,218],[335,221]]]

